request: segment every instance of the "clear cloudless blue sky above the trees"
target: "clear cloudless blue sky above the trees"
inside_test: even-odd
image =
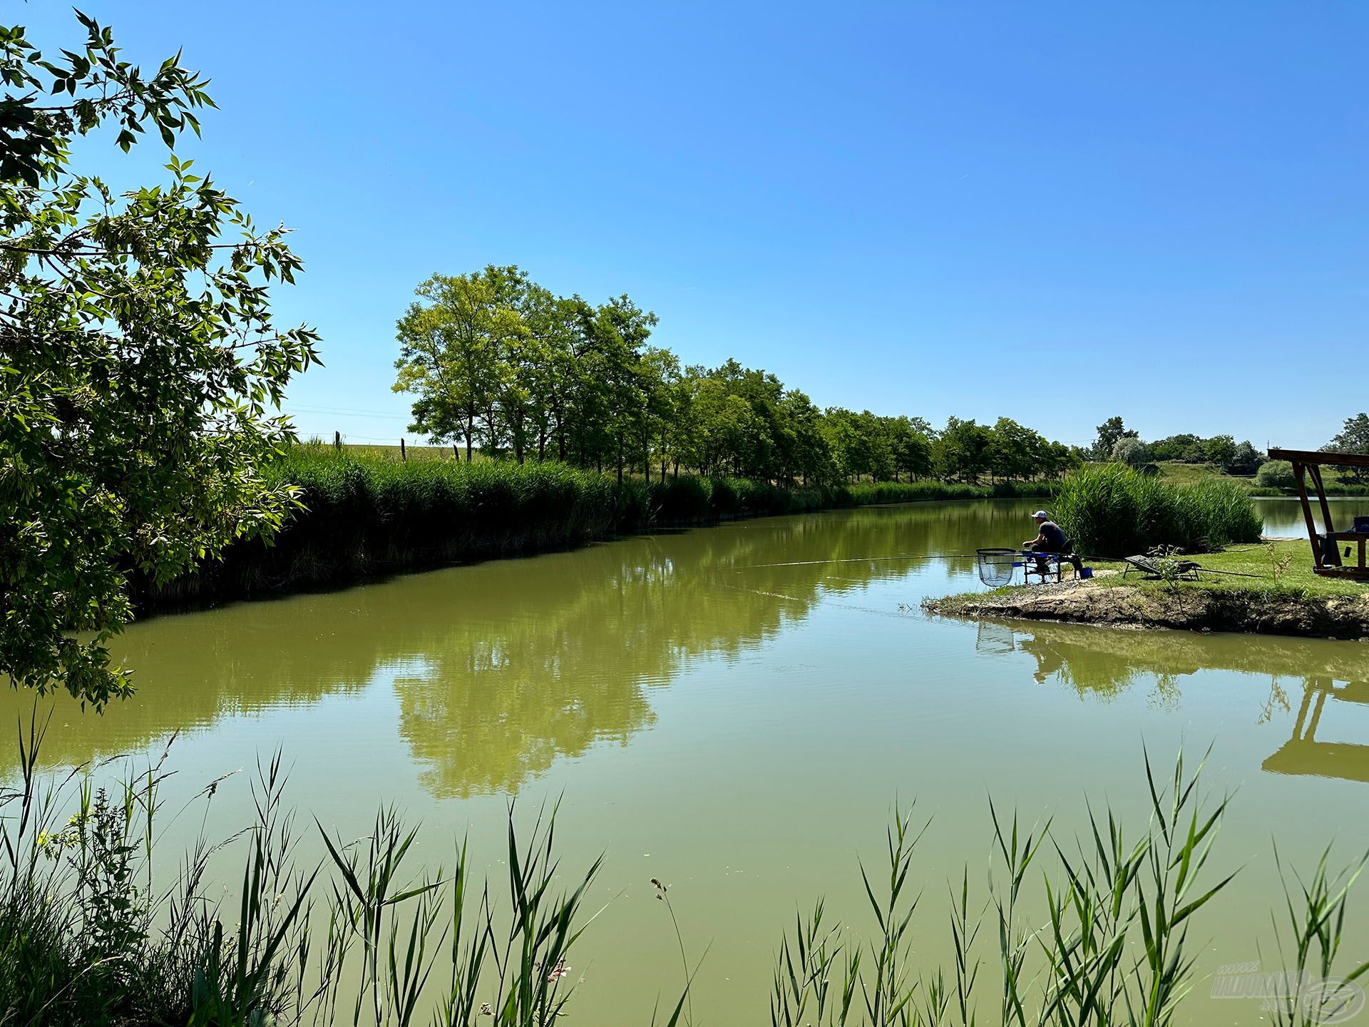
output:
[[[222,111],[182,153],[297,229],[304,433],[397,438],[396,318],[490,262],[823,405],[1257,445],[1369,407],[1369,4],[84,10],[145,63],[183,47]]]

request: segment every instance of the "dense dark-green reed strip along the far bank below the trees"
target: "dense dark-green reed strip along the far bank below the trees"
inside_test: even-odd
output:
[[[301,445],[267,470],[301,490],[274,544],[233,545],[222,561],[162,587],[137,583],[141,609],[330,587],[370,574],[545,552],[617,534],[882,503],[1040,496],[1045,483],[864,482],[789,489],[682,475],[622,486],[564,464],[389,455]]]

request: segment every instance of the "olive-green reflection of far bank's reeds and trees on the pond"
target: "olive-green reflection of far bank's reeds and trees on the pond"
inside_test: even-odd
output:
[[[428,789],[515,789],[559,755],[653,723],[649,689],[691,659],[754,649],[824,592],[942,566],[891,556],[1020,535],[1027,509],[928,504],[757,520],[159,618],[119,646],[140,696],[104,718],[59,702],[47,755],[74,763],[383,682]],[[0,718],[12,723],[30,702],[4,693]]]

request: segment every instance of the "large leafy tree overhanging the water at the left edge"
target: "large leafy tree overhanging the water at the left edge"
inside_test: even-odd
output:
[[[71,166],[78,136],[171,147],[211,105],[179,55],[145,74],[77,16],[84,48],[51,60],[0,29],[0,674],[99,705],[129,689],[105,648],[129,572],[170,579],[292,504],[256,468],[318,340],[271,319],[267,285],[300,270],[285,230],[190,162],[119,196]]]

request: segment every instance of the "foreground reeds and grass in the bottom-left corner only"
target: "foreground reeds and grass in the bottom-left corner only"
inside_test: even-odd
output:
[[[359,839],[314,824],[327,856],[311,864],[277,756],[257,767],[256,820],[201,835],[163,883],[153,839],[178,815],[159,798],[167,753],[105,791],[84,768],[40,775],[41,741],[21,739],[21,785],[0,794],[0,1022],[552,1027],[564,1015],[598,863],[560,883],[554,811],[522,839],[509,811],[502,900],[471,878],[464,844],[446,868],[412,867],[419,828],[394,809]],[[192,801],[201,823],[220,783]],[[230,846],[237,901],[209,876]]]

